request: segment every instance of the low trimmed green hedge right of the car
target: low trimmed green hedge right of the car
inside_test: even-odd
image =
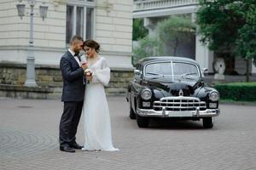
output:
[[[256,101],[256,82],[230,82],[214,85],[220,99],[234,101]]]

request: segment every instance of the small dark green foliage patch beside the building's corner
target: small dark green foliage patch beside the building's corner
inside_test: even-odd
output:
[[[133,19],[132,40],[137,41],[147,35],[148,30],[143,26],[143,19]]]

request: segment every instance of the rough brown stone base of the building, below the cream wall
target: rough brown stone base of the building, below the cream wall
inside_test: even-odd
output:
[[[25,64],[0,63],[0,97],[61,99],[62,77],[57,66],[36,65],[38,87],[23,86],[26,81]],[[112,69],[110,82],[105,88],[108,95],[126,94],[133,77],[131,69]]]

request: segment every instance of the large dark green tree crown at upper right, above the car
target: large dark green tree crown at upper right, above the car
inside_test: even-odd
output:
[[[200,0],[196,22],[200,26],[201,41],[207,42],[212,50],[230,48],[238,37],[238,29],[245,23],[241,3],[234,2],[237,1]]]

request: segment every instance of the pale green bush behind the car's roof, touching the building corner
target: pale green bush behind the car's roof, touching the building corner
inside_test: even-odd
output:
[[[133,63],[145,57],[163,54],[163,45],[157,37],[143,37],[138,42],[139,46],[133,49]]]

